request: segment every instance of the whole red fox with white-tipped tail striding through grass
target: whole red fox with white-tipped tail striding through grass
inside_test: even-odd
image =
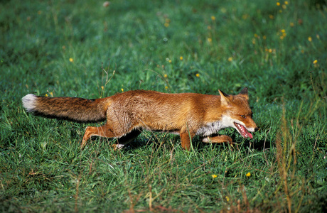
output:
[[[227,127],[236,129],[243,138],[253,138],[250,132],[258,128],[252,120],[247,88],[237,95],[218,91],[220,96],[132,90],[102,99],[27,94],[22,102],[27,111],[38,116],[80,122],[107,120],[104,126],[87,126],[81,148],[91,136],[117,138],[114,146],[122,148],[144,129],[179,134],[186,150],[194,136],[205,143],[232,143],[229,136],[218,135]]]

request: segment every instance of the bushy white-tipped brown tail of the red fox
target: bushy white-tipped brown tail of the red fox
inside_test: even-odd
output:
[[[38,116],[79,122],[97,122],[106,119],[104,99],[75,97],[40,97],[27,94],[23,107]]]

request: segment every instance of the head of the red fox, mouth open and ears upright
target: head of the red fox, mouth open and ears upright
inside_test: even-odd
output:
[[[252,119],[247,87],[237,95],[228,95],[220,91],[221,106],[226,109],[223,114],[223,126],[236,129],[243,138],[253,138],[250,132],[257,131],[257,124]]]

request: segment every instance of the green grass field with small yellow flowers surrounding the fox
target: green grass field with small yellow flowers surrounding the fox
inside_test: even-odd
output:
[[[326,1],[0,2],[1,212],[326,212]],[[237,94],[237,146],[144,131],[122,151],[21,97]]]

